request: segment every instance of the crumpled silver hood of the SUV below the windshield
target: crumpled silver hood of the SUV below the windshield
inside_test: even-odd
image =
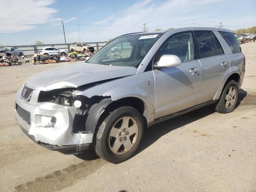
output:
[[[78,63],[47,70],[29,77],[26,86],[35,90],[50,91],[60,88],[77,88],[85,84],[134,75],[135,67]]]

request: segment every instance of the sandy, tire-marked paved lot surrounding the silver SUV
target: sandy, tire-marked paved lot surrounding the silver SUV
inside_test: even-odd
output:
[[[246,76],[234,112],[208,106],[156,124],[138,154],[118,165],[93,151],[47,150],[16,123],[14,97],[26,78],[72,63],[0,67],[0,191],[255,192],[256,42],[241,47]]]

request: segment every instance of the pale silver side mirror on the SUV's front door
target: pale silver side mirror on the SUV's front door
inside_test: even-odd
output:
[[[168,68],[179,66],[181,64],[181,60],[176,55],[162,55],[157,65],[154,65],[155,69]]]

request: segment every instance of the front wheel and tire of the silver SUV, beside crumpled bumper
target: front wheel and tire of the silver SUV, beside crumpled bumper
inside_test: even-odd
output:
[[[121,163],[134,155],[142,135],[143,120],[140,113],[130,106],[117,108],[100,124],[95,151],[108,162]]]

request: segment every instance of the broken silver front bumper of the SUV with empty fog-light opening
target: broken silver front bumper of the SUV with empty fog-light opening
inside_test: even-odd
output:
[[[20,128],[30,139],[65,154],[75,154],[89,148],[93,133],[73,132],[76,107],[37,102],[38,90],[33,90],[29,102],[22,100],[20,93],[21,90],[16,94],[15,116]],[[52,118],[54,123],[51,123]]]

